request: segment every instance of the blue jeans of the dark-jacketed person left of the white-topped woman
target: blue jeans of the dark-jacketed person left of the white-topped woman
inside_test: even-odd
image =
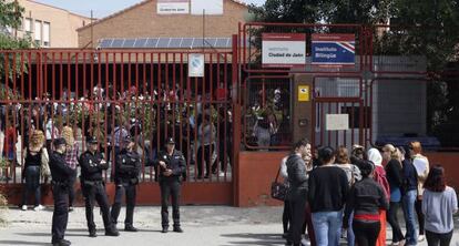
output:
[[[407,226],[406,245],[417,245],[418,235],[416,232],[416,202],[417,191],[408,191],[402,197],[405,222]]]

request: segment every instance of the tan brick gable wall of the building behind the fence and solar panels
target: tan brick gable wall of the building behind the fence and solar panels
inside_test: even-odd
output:
[[[224,1],[223,16],[205,17],[205,37],[230,38],[237,34],[247,7],[232,0]],[[93,40],[103,38],[159,38],[203,35],[203,17],[192,14],[156,14],[156,1],[150,0],[113,14],[93,24]],[[91,42],[91,28],[79,30],[79,45]]]

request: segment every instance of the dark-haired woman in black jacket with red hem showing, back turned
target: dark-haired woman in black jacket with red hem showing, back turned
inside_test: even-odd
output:
[[[344,221],[347,222],[354,211],[353,228],[357,245],[375,246],[381,229],[379,209],[388,209],[389,204],[381,186],[373,180],[375,164],[370,161],[359,164],[363,180],[349,192]],[[348,225],[344,223],[343,226]]]

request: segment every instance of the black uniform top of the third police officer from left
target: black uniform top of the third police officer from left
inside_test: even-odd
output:
[[[115,183],[139,183],[141,171],[140,156],[136,152],[128,152],[125,148],[116,157]]]

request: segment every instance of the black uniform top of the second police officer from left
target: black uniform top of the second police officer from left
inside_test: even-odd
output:
[[[104,156],[101,152],[92,154],[90,151],[81,154],[79,163],[81,167],[82,181],[102,181],[102,171],[109,168],[109,163],[101,164]]]

